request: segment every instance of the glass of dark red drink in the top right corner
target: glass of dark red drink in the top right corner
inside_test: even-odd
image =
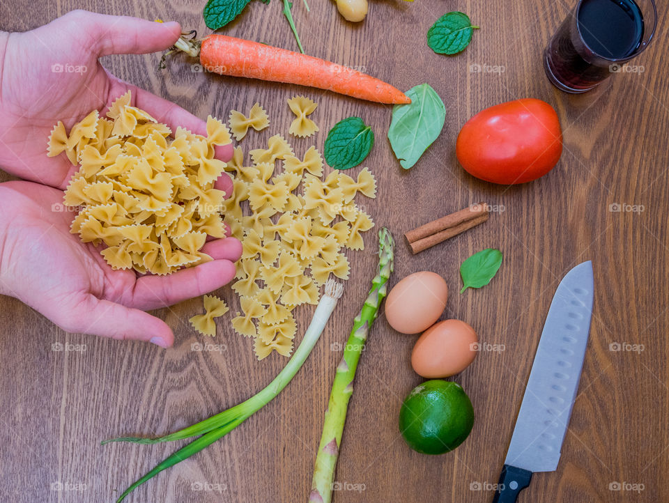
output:
[[[544,50],[544,70],[567,93],[590,91],[643,52],[655,33],[654,0],[579,0]]]

